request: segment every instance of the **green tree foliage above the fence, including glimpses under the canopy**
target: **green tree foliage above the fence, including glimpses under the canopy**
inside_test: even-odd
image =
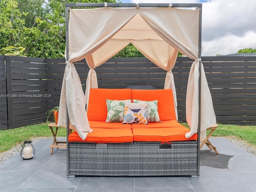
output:
[[[120,2],[69,0],[70,3]],[[63,58],[66,46],[64,0],[1,0],[0,54]],[[178,56],[183,56],[180,52]],[[132,44],[115,57],[144,57]]]

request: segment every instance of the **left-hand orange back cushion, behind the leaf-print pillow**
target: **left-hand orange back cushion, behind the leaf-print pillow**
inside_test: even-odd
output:
[[[132,98],[131,89],[90,89],[87,116],[89,121],[106,121],[108,100],[126,100]]]

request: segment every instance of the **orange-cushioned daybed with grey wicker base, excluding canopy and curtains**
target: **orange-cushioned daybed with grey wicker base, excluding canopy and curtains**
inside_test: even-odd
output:
[[[106,99],[156,101],[158,110],[153,116],[158,113],[161,122],[153,117],[153,122],[140,124],[143,115],[136,123],[130,122],[133,124],[106,122],[107,116],[115,121],[125,110],[117,102],[107,108]],[[113,114],[109,108],[118,112]],[[140,113],[143,108],[139,112],[138,106],[134,108],[135,116],[144,114]],[[150,106],[148,109],[153,111]],[[197,175],[197,134],[185,137],[189,129],[176,120],[172,90],[92,89],[87,115],[93,131],[86,139],[82,140],[76,131],[68,136],[70,175]]]

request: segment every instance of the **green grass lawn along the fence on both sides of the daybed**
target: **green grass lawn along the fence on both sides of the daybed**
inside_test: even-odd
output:
[[[183,125],[187,126],[187,124]],[[58,136],[66,136],[66,129],[60,128]],[[235,136],[256,147],[256,126],[218,124],[217,130],[212,136]],[[25,140],[34,137],[52,137],[52,133],[46,123],[0,130],[0,152],[9,150],[12,146],[22,144]]]

